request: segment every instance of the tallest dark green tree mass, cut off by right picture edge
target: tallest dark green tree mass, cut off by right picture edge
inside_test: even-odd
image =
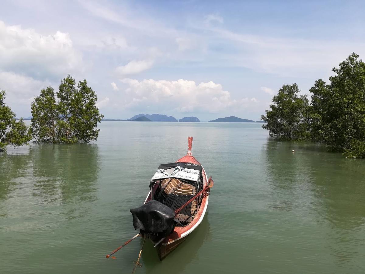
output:
[[[312,136],[330,151],[365,157],[365,63],[355,53],[334,68],[326,85],[317,80],[310,92]]]

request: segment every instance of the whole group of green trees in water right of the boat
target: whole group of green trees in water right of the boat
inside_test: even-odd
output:
[[[352,53],[333,68],[329,84],[318,79],[308,95],[297,84],[283,85],[261,119],[280,141],[314,141],[349,158],[365,158],[365,63]]]

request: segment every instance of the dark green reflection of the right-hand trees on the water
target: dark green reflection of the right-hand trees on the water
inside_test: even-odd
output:
[[[290,209],[300,200],[304,202],[305,197],[310,200],[305,206],[311,207],[321,219],[326,216],[335,227],[347,229],[362,223],[365,176],[360,170],[361,165],[365,168],[364,160],[327,153],[323,146],[311,143],[271,140],[266,144],[265,153],[267,175],[278,202],[273,208]]]

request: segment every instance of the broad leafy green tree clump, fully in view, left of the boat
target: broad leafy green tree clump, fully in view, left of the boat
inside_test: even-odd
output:
[[[51,87],[41,91],[32,103],[32,130],[38,142],[90,142],[97,139],[95,129],[103,115],[96,107],[97,96],[87,81],[68,75],[61,80],[58,92]]]

